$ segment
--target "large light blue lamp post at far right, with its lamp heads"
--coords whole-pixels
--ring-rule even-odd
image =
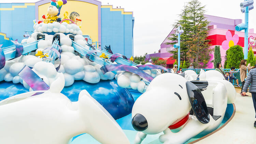
[[[241,12],[244,13],[244,23],[235,27],[236,31],[244,30],[244,59],[247,59],[248,55],[248,17],[249,11],[253,9],[253,0],[244,0],[240,3]]]

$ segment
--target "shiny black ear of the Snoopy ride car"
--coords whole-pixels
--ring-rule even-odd
[[[197,119],[202,124],[209,123],[210,115],[201,91],[196,85],[194,85],[189,81],[186,82],[186,87],[187,87],[189,102],[191,103],[192,109]]]

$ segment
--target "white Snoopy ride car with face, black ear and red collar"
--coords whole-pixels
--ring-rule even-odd
[[[193,76],[161,74],[136,100],[132,126],[139,132],[134,144],[140,144],[147,134],[161,132],[164,134],[159,136],[160,142],[183,144],[219,127],[227,103],[235,100],[233,85],[218,71],[201,71],[199,80],[193,80],[194,73],[188,74]],[[170,130],[177,128],[180,131],[176,133]]]

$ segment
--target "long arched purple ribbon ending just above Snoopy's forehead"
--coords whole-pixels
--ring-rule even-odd
[[[149,82],[151,82],[154,79],[154,77],[152,77],[151,75],[145,73],[144,71],[142,71],[140,69],[134,68],[132,66],[123,65],[123,64],[105,65],[105,66],[102,66],[100,68],[100,70],[103,74],[105,74],[106,72],[110,72],[110,71],[128,71],[128,72],[138,74],[139,76],[145,78]]]

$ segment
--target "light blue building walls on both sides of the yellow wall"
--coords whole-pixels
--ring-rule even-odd
[[[34,19],[34,4],[0,3],[0,33],[5,33],[8,38],[21,42],[25,30],[34,30]],[[101,48],[105,50],[103,47],[110,45],[113,53],[130,58],[133,55],[133,20],[132,14],[101,8]],[[12,42],[0,35],[0,44],[7,47]]]

